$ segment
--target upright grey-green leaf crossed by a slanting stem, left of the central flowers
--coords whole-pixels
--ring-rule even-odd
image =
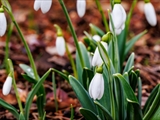
[[[82,42],[79,42],[79,47],[82,53],[83,61],[85,62],[84,63],[85,67],[90,69],[90,61],[89,61],[86,47]],[[77,73],[78,73],[78,80],[80,81],[81,84],[83,84],[83,78],[82,78],[83,68],[81,66],[80,58],[78,56],[78,51],[76,51],[76,67],[77,67]]]

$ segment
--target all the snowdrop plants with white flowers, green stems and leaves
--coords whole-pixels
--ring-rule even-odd
[[[95,0],[97,9],[102,16],[105,31],[102,31],[96,25],[90,24],[91,32],[84,32],[84,42],[86,46],[84,43],[78,42],[63,0],[58,1],[64,11],[70,32],[74,38],[76,59],[74,60],[72,58],[63,37],[62,30],[58,25],[54,25],[57,30],[56,49],[60,56],[67,53],[73,69],[73,75],[71,73],[68,76],[61,71],[50,68],[42,77],[40,77],[30,49],[14,18],[8,0],[1,0],[0,36],[3,36],[7,29],[7,21],[4,14],[4,12],[6,12],[16,27],[30,60],[30,66],[20,64],[21,69],[25,72],[22,76],[24,79],[31,82],[33,87],[27,97],[25,106],[22,106],[15,82],[14,66],[9,57],[6,58],[5,63],[6,69],[8,68],[8,77],[4,82],[2,93],[8,95],[13,86],[18,101],[19,112],[14,106],[8,104],[3,99],[0,99],[0,106],[9,110],[15,118],[19,120],[28,120],[32,100],[36,95],[39,119],[45,119],[45,89],[43,87],[43,82],[47,76],[52,73],[54,81],[53,88],[56,98],[54,72],[57,72],[72,86],[82,105],[80,113],[87,120],[160,119],[158,116],[158,112],[160,111],[160,86],[157,85],[154,88],[145,106],[141,109],[142,85],[140,70],[134,69],[134,53],[129,56],[126,65],[123,66],[134,43],[147,32],[144,30],[130,40],[127,38],[130,19],[137,0],[132,1],[132,6],[128,15],[121,5],[121,0],[110,0],[112,9],[108,10],[109,22],[104,15],[100,1]],[[86,0],[77,0],[76,5],[77,13],[80,17],[79,19],[81,19],[81,17],[85,15],[87,7]],[[52,0],[35,0],[34,2],[34,10],[38,11],[41,9],[42,13],[47,13],[51,6]],[[151,26],[157,24],[156,13],[149,0],[144,0],[144,14]],[[13,26],[10,27],[8,32],[12,30],[12,27]],[[11,34],[7,34],[7,38],[9,39],[10,37]],[[7,54],[8,53],[6,53],[6,56],[8,56]],[[137,94],[135,94],[135,92]],[[56,100],[55,104],[57,104]],[[73,113],[71,114],[71,119],[74,119]]]

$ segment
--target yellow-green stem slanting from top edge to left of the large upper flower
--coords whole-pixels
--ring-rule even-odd
[[[104,12],[102,10],[102,6],[101,6],[99,0],[96,0],[96,5],[97,5],[97,8],[98,8],[99,12],[101,13],[106,32],[108,32],[109,31],[108,23],[107,23],[106,17],[104,15]]]

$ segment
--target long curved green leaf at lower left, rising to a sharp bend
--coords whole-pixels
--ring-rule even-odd
[[[37,84],[34,86],[32,91],[29,93],[27,100],[26,100],[26,105],[25,105],[25,118],[26,120],[29,119],[29,110],[32,104],[32,100],[36,93],[38,92],[39,88],[42,86],[44,80],[48,77],[49,73],[51,72],[51,69],[49,69],[43,76],[40,78],[40,80],[37,82]],[[43,104],[43,103],[41,103]]]

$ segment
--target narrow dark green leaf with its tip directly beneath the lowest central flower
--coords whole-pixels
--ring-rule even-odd
[[[94,101],[94,103],[103,111],[107,120],[113,120],[111,114],[105,107],[103,107],[98,101]]]

